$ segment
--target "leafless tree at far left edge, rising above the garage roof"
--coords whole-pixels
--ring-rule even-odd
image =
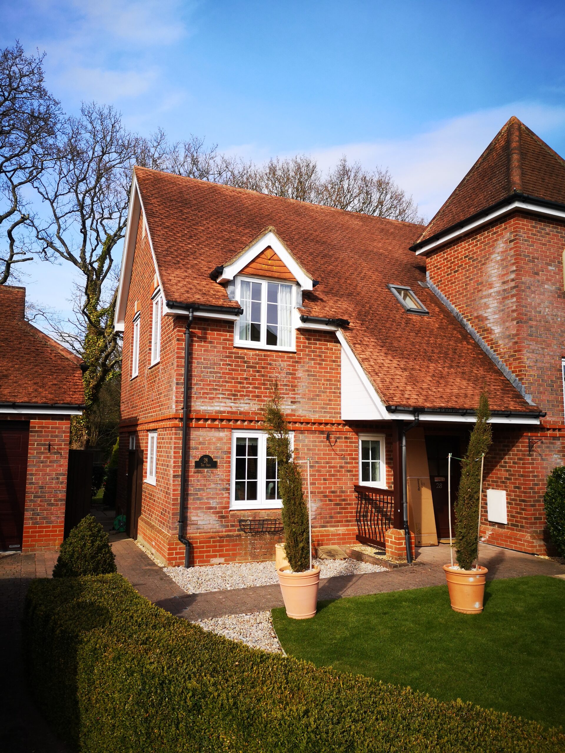
[[[19,42],[0,53],[0,285],[32,258],[21,234],[29,220],[23,190],[53,158],[60,105],[44,87],[43,59],[26,56]]]

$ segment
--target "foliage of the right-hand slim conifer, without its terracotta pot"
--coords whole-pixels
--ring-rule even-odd
[[[461,481],[455,503],[455,548],[457,564],[470,570],[478,556],[478,507],[481,488],[481,456],[493,441],[488,398],[482,393],[477,420],[469,437],[469,447],[461,463]]]

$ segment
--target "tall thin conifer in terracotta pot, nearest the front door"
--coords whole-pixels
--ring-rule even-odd
[[[487,568],[478,564],[482,468],[493,441],[488,420],[488,398],[483,392],[469,447],[461,465],[461,480],[455,503],[455,549],[457,565],[444,565],[451,608],[465,614],[483,611]]]

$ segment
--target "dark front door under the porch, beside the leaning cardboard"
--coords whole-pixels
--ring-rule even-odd
[[[432,485],[432,501],[434,505],[435,529],[439,538],[449,538],[449,486],[447,456],[459,457],[460,440],[454,436],[426,436],[426,451],[428,455],[429,481]],[[451,458],[451,527],[455,530],[454,502],[459,489],[461,477],[460,462]]]

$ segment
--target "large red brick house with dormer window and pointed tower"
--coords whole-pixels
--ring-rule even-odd
[[[545,552],[563,249],[565,163],[515,118],[427,227],[136,168],[116,315],[130,532],[169,563],[273,557],[276,380],[314,544],[390,528],[402,549],[406,518],[412,547],[437,544],[486,389],[484,538]]]

